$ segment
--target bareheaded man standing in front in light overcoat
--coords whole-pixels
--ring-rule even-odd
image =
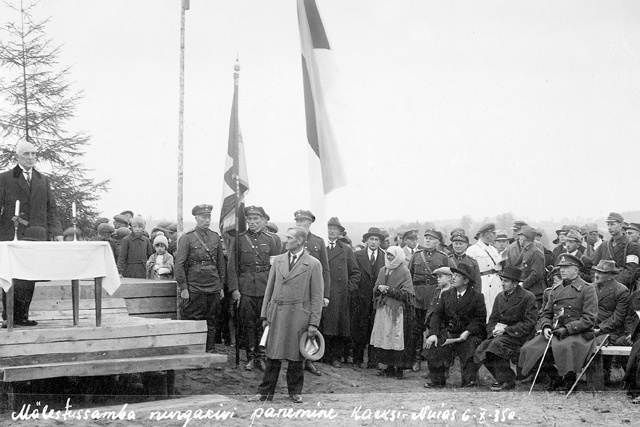
[[[313,338],[322,315],[322,265],[304,249],[307,231],[302,227],[287,230],[287,252],[278,255],[269,272],[262,303],[263,327],[269,326],[266,370],[257,401],[271,400],[275,393],[282,360],[288,360],[289,398],[301,403],[304,385],[304,358],[300,337],[306,331]]]

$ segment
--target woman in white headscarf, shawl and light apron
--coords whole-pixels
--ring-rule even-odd
[[[413,282],[404,266],[405,255],[399,246],[390,246],[385,266],[380,269],[373,295],[376,309],[370,345],[375,347],[377,361],[387,365],[381,376],[402,379],[403,369],[413,363]]]

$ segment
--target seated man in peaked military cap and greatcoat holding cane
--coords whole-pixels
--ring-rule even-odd
[[[562,254],[558,266],[563,284],[551,291],[538,320],[538,335],[522,346],[518,360],[523,375],[541,364],[551,378],[548,391],[571,387],[591,350],[598,318],[596,290],[579,276],[582,261]]]

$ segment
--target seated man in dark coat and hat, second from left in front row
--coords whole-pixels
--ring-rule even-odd
[[[475,362],[484,363],[496,380],[491,386],[493,391],[515,387],[510,360],[527,341],[538,318],[536,297],[518,286],[521,276],[522,270],[510,266],[500,274],[504,290],[493,303],[487,323],[489,338],[478,346],[474,355]]]

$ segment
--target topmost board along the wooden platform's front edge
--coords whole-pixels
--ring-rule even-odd
[[[155,335],[172,334],[192,334],[206,333],[207,322],[205,320],[174,320],[174,321],[154,321],[155,319],[143,319],[126,317],[127,323],[121,326],[105,325],[100,328],[84,327],[64,329],[40,329],[25,328],[16,329],[8,334],[0,331],[1,347],[12,344],[46,344],[55,342],[66,342],[74,340],[105,340],[118,338],[150,337]],[[40,326],[40,325],[38,325]],[[68,325],[67,325],[68,326]]]

